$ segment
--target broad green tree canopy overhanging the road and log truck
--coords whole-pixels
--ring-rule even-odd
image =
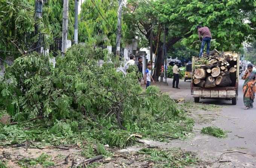
[[[158,79],[162,64],[163,27],[167,29],[167,51],[177,42],[187,45],[198,40],[196,26],[201,24],[212,31],[219,50],[239,49],[242,42],[253,35],[256,26],[254,0],[157,0],[131,1],[137,6],[134,12],[126,13],[133,36],[140,34],[148,40],[153,30],[153,51],[157,51],[157,66],[154,76]],[[131,21],[131,19],[133,19]],[[245,22],[245,20],[248,20]],[[126,20],[125,20],[126,21]],[[144,38],[144,39],[145,39]],[[143,40],[142,40],[143,41]]]

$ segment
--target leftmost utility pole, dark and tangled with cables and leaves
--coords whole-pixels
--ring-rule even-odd
[[[43,1],[42,0],[35,0],[35,21],[39,20],[42,18],[42,13],[43,13]],[[38,30],[39,26],[38,24],[35,26],[35,31],[37,34],[39,34],[37,45],[36,45],[36,51],[38,53],[41,53],[41,34]]]

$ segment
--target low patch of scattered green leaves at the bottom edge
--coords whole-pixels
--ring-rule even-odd
[[[144,154],[145,160],[153,162],[153,168],[184,168],[197,162],[193,153],[178,148],[171,150],[143,148],[137,153]]]

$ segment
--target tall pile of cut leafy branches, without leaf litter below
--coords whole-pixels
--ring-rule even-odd
[[[178,117],[175,102],[157,87],[142,91],[136,68],[124,75],[114,60],[99,66],[102,53],[111,58],[106,50],[75,45],[57,57],[56,68],[37,53],[17,58],[0,84],[2,110],[12,123],[84,118],[97,127],[109,120],[125,130]]]

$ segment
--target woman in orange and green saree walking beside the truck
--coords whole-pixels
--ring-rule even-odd
[[[243,93],[244,93],[244,105],[245,108],[244,110],[248,110],[249,108],[253,108],[253,100],[255,97],[255,92],[256,92],[256,78],[255,74],[253,73],[253,65],[249,64],[247,66],[247,70],[244,73],[243,80],[244,85],[243,85]]]

